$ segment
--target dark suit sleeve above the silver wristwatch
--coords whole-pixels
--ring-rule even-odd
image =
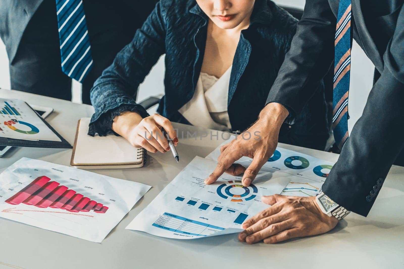
[[[381,76],[322,187],[332,200],[362,216],[368,215],[391,165],[404,148],[403,51],[404,7],[383,56]]]

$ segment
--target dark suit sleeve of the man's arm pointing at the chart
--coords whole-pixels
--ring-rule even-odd
[[[267,104],[284,105],[292,119],[301,112],[333,62],[335,27],[336,19],[327,0],[306,0],[303,17]]]

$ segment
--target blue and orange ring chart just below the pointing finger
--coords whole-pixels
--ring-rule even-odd
[[[245,202],[254,199],[258,189],[254,185],[244,187],[241,180],[227,181],[217,187],[217,194],[224,199],[231,198],[231,202]]]

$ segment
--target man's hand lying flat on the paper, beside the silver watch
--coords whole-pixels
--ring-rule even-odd
[[[265,209],[245,221],[245,229],[238,240],[254,244],[277,243],[296,237],[314,236],[332,230],[338,219],[324,214],[316,202],[316,197],[263,196],[262,201],[270,204]]]

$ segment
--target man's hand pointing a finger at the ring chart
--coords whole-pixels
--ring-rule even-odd
[[[278,103],[270,103],[261,111],[259,119],[248,130],[236,139],[221,147],[218,164],[205,179],[206,184],[215,182],[224,172],[231,175],[244,173],[242,184],[250,186],[258,171],[268,161],[278,145],[279,130],[288,116],[288,110]],[[235,161],[242,156],[252,158],[250,166],[246,169]]]

